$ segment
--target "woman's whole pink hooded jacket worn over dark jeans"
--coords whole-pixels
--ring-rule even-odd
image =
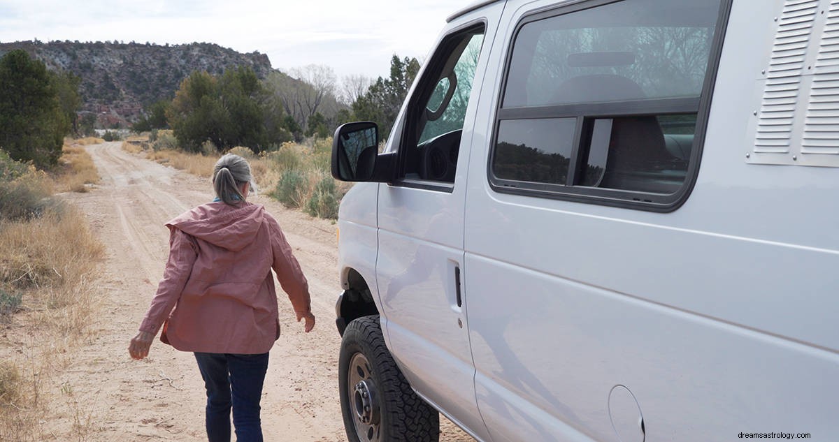
[[[279,338],[271,269],[298,317],[310,311],[308,282],[263,206],[207,203],[166,226],[169,260],[140,331],[165,321],[161,340],[178,350],[268,352]]]

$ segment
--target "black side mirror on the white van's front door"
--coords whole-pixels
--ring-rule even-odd
[[[341,181],[389,181],[392,154],[378,154],[378,126],[371,121],[341,125],[332,138],[332,177]]]

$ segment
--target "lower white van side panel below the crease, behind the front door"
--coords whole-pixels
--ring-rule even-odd
[[[565,440],[566,425],[610,440],[616,385],[637,398],[647,440],[832,434],[835,353],[497,260],[467,254],[466,265],[493,440]]]

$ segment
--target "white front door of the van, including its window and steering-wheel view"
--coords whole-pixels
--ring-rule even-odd
[[[378,197],[378,291],[388,347],[412,387],[487,439],[477,413],[466,323],[463,204],[466,162],[486,67],[485,35],[501,8],[450,27],[414,82],[388,152],[399,177]],[[494,15],[490,17],[489,15]]]

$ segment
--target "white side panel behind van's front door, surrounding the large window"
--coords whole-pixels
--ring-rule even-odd
[[[506,52],[518,18],[550,3],[508,2],[496,47]],[[779,5],[758,16],[774,23]],[[839,179],[836,169],[748,164],[737,149],[755,105],[743,90],[760,81],[739,60],[758,64],[768,49],[754,42],[772,41],[753,38],[773,29],[755,14],[734,3],[696,187],[673,213],[494,192],[497,105],[482,106],[465,278],[478,404],[496,442],[613,439],[616,385],[637,398],[647,440],[830,433],[839,305],[826,295],[839,282],[839,229],[823,214],[839,213],[829,197]],[[801,409],[789,407],[796,395]]]

